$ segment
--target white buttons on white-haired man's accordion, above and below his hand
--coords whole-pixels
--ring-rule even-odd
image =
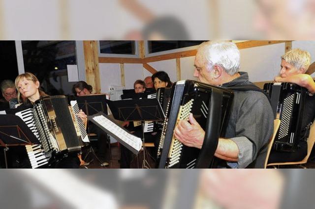
[[[177,118],[177,123],[180,120],[188,120],[188,116],[191,112],[191,108],[193,105],[193,99],[189,100],[186,104],[180,106],[178,118]],[[179,163],[181,154],[182,154],[182,149],[183,149],[183,144],[178,141],[176,137],[173,135],[173,139],[171,142],[170,146],[170,151],[169,151],[169,163],[168,163],[168,168],[172,167],[173,165]]]

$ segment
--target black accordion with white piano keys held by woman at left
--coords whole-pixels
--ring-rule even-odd
[[[16,113],[41,143],[26,146],[32,168],[49,165],[67,153],[79,152],[84,142],[89,142],[84,123],[76,115],[78,112],[76,101],[71,101],[69,106],[65,96],[51,96],[37,100],[33,109]]]

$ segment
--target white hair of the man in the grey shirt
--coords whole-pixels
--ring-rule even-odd
[[[198,53],[203,53],[208,70],[220,65],[224,71],[233,76],[240,68],[240,51],[236,44],[229,41],[207,41],[200,44]]]

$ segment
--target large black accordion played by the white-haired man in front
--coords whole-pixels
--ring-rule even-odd
[[[209,168],[218,146],[233,92],[205,83],[181,80],[173,84],[158,146],[158,168]],[[189,114],[205,130],[201,149],[179,142],[173,131]]]

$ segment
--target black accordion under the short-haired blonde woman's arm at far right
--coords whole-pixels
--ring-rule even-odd
[[[273,149],[297,150],[307,89],[293,83],[265,83],[264,91],[270,97],[275,116],[281,120]]]

